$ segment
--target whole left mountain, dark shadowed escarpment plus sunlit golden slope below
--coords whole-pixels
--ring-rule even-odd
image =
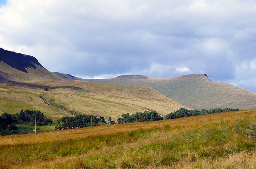
[[[116,120],[123,113],[156,110],[166,115],[185,107],[146,87],[78,80],[49,72],[33,56],[0,48],[0,113],[40,110],[58,119],[81,112]]]

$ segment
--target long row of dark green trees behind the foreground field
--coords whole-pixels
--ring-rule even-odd
[[[135,114],[122,114],[121,117],[117,118],[118,124],[126,124],[126,123],[134,123],[134,122],[142,122],[142,121],[156,121],[163,119],[173,119],[173,118],[181,118],[187,116],[196,116],[202,114],[211,114],[211,113],[220,113],[220,112],[229,112],[229,111],[238,111],[239,109],[210,109],[210,110],[188,110],[185,108],[181,108],[177,111],[171,112],[167,114],[165,117],[160,116],[156,111],[144,111],[144,112],[136,112]],[[0,116],[0,133],[6,131],[17,130],[16,124],[18,125],[35,125],[35,116],[37,117],[37,125],[48,125],[52,124],[53,120],[51,117],[47,118],[40,111],[34,110],[21,110],[16,114],[3,113]],[[55,123],[56,124],[56,123]],[[73,116],[63,116],[61,119],[57,120],[57,125],[55,126],[56,130],[72,128],[81,128],[81,127],[90,127],[90,126],[101,126],[101,125],[112,125],[115,124],[112,121],[112,117],[109,117],[108,121],[105,121],[104,116],[100,116],[99,118],[95,115],[88,114],[78,114]]]

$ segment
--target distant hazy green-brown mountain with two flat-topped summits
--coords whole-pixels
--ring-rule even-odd
[[[84,80],[149,87],[194,109],[256,108],[255,93],[227,83],[211,81],[205,74],[191,74],[166,79],[127,75],[112,79]]]

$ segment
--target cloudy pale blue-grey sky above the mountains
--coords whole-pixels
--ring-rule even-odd
[[[255,0],[0,0],[0,48],[80,78],[207,74],[256,93]]]

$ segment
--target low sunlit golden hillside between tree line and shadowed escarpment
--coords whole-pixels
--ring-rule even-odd
[[[146,87],[76,80],[16,82],[15,85],[0,86],[0,113],[16,113],[21,109],[40,110],[54,119],[72,114],[49,104],[51,99],[54,99],[55,105],[66,106],[68,110],[106,118],[111,116],[113,120],[123,113],[155,110],[166,115],[185,107]]]

